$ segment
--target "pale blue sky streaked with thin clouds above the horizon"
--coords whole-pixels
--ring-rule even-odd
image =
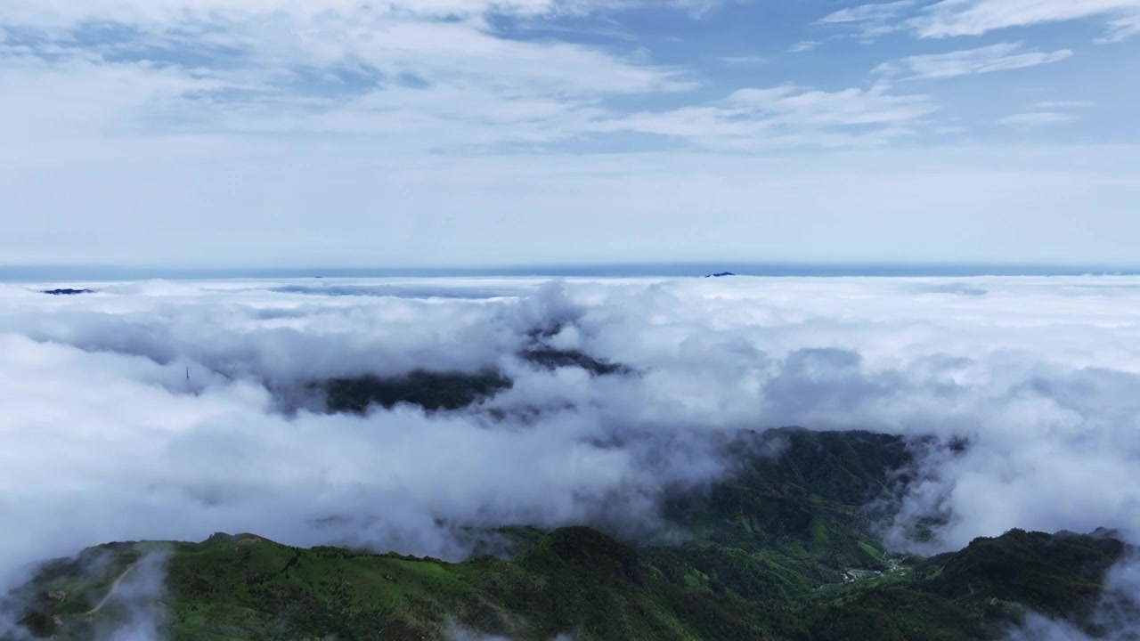
[[[1140,262],[1140,0],[9,0],[0,261]]]

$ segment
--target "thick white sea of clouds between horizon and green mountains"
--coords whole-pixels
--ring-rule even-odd
[[[1012,527],[1140,542],[1140,278],[0,284],[0,583],[109,541],[251,532],[461,558],[467,527],[650,524],[798,424],[968,439],[893,545]],[[518,352],[620,363],[596,376]],[[450,413],[329,414],[307,384],[495,367]],[[495,412],[492,412],[492,409]],[[505,417],[504,417],[505,416]],[[950,516],[933,543],[906,524]]]

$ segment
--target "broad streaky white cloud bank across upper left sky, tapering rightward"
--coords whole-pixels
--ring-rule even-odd
[[[0,82],[22,97],[0,114],[0,132],[10,128],[30,148],[74,147],[76,135],[101,148],[99,138],[121,143],[124,131],[136,139],[187,131],[386,135],[421,152],[559,140],[580,135],[606,96],[693,83],[676,68],[596,48],[500,38],[484,15],[605,6],[19,2],[0,26],[36,38],[0,47]],[[443,16],[457,19],[437,19]],[[79,38],[93,21],[121,29]],[[122,82],[105,84],[112,75]],[[79,99],[93,108],[68,115],[59,107]],[[33,117],[44,106],[64,122]],[[75,117],[82,131],[51,135]],[[27,131],[26,120],[43,128]]]

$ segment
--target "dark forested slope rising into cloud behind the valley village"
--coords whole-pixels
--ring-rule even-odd
[[[733,449],[735,478],[671,496],[667,518],[699,542],[764,554],[809,583],[839,583],[844,568],[888,569],[868,542],[912,462],[902,438],[783,429],[750,432]],[[873,501],[885,508],[869,510]]]

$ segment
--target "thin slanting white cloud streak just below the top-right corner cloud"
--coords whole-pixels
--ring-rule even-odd
[[[1073,51],[1068,49],[1052,52],[1025,51],[1019,42],[1004,42],[950,54],[910,56],[883,63],[874,71],[893,78],[901,76],[899,80],[955,78],[1057,63],[1072,55]]]

